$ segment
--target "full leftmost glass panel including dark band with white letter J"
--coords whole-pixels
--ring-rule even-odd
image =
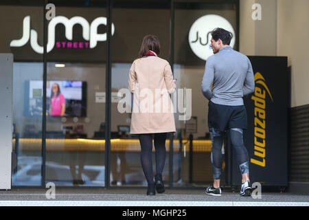
[[[43,55],[32,50],[30,29],[43,42],[43,1],[19,2],[0,3],[0,52],[14,54],[12,186],[41,186]]]

